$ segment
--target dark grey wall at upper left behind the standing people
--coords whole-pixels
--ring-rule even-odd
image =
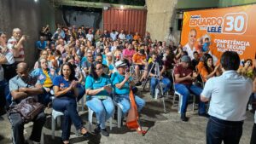
[[[23,34],[30,36],[25,43],[25,60],[29,66],[36,60],[35,42],[38,40],[41,26],[53,26],[50,22],[54,19],[54,11],[50,8],[47,0],[38,0],[38,3],[33,0],[0,1],[0,31],[7,32],[8,37],[11,37],[13,28],[19,27]]]

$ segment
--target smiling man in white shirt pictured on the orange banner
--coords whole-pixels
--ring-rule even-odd
[[[194,51],[195,51],[195,43],[196,43],[196,30],[191,29],[189,31],[189,42],[183,47],[183,51],[187,51],[190,59],[194,58]]]

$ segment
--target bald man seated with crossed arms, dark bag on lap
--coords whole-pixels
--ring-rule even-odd
[[[37,81],[37,78],[29,76],[28,66],[25,62],[20,62],[17,65],[16,72],[17,75],[9,80],[9,90],[12,95],[12,104],[10,107],[15,107],[15,105],[19,104],[26,97],[43,94],[42,85]],[[23,135],[25,123],[20,117],[20,113],[10,113],[9,120],[13,130],[13,143],[26,143]],[[45,120],[44,112],[40,112],[32,120],[34,122],[32,135],[28,141],[40,142]]]

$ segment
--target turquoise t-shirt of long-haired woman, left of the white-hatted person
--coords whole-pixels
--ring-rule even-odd
[[[85,89],[100,89],[102,87],[104,87],[105,85],[110,84],[110,79],[108,76],[104,75],[98,79],[94,79],[91,76],[88,76],[85,80]],[[107,95],[108,91],[106,90],[102,90],[101,92],[99,92],[96,95]]]

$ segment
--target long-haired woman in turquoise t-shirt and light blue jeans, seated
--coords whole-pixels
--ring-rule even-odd
[[[93,112],[96,112],[97,126],[95,133],[102,133],[108,136],[105,122],[113,115],[114,107],[110,96],[112,88],[110,78],[103,73],[102,63],[96,61],[91,65],[90,75],[86,78],[86,94],[89,95],[89,100],[86,101],[87,107]]]

